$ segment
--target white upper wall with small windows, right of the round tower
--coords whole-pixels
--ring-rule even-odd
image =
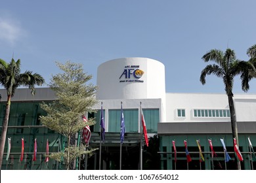
[[[236,120],[256,122],[256,95],[234,95]],[[177,108],[184,108],[186,117],[177,117]],[[230,122],[230,118],[194,118],[194,109],[229,109],[223,93],[166,93],[166,122]]]

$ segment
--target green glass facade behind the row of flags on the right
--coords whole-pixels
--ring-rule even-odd
[[[224,161],[223,145],[220,139],[224,138],[226,150],[230,156],[228,162]],[[200,152],[196,139],[200,139],[200,146],[205,161],[200,161]],[[211,158],[211,148],[209,147],[208,139],[211,139],[213,144],[213,150],[216,156]],[[256,136],[250,134],[250,139],[256,142]],[[184,140],[188,142],[188,152],[192,161],[187,163],[186,151],[184,148]],[[161,169],[164,170],[235,170],[237,169],[237,158],[234,154],[234,146],[232,141],[232,135],[216,135],[216,134],[200,134],[200,135],[169,135],[160,137],[160,154],[161,154]],[[177,161],[175,163],[175,153],[172,141],[175,141],[177,150]],[[256,150],[256,147],[253,147]],[[247,135],[239,135],[239,149],[242,153],[244,161],[240,161],[242,170],[255,169],[256,161],[251,161],[249,152],[249,142],[247,141]]]

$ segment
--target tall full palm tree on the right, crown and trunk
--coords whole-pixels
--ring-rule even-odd
[[[234,50],[230,48],[226,49],[226,52],[221,50],[210,50],[207,52],[203,57],[203,61],[213,61],[215,64],[207,65],[205,69],[202,70],[200,76],[200,82],[205,84],[205,76],[206,75],[216,75],[219,78],[223,79],[224,82],[224,89],[226,91],[226,95],[228,95],[228,105],[230,109],[230,120],[231,120],[231,128],[232,128],[232,137],[236,138],[238,142],[238,127],[236,124],[236,112],[234,108],[234,101],[233,101],[233,93],[232,88],[234,84],[234,77],[237,75],[242,75],[243,71],[249,70],[253,68],[247,61],[240,61],[236,59],[236,54]],[[246,82],[247,77],[241,77],[242,79],[242,90],[247,91],[249,84]],[[238,163],[238,169],[241,169],[240,163]]]

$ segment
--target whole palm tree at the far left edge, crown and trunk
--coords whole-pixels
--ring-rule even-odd
[[[3,120],[1,143],[0,143],[0,169],[3,161],[3,150],[5,148],[5,140],[7,135],[7,127],[9,122],[11,97],[13,97],[16,88],[25,86],[30,88],[32,95],[35,94],[35,85],[41,86],[45,80],[37,73],[32,75],[32,71],[20,73],[20,59],[14,61],[12,58],[10,63],[0,59],[0,84],[7,90],[7,104],[5,109],[5,118]]]

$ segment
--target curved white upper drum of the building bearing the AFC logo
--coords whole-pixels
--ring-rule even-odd
[[[142,74],[142,75],[141,75]],[[162,99],[165,66],[149,58],[119,58],[98,66],[97,99]]]

